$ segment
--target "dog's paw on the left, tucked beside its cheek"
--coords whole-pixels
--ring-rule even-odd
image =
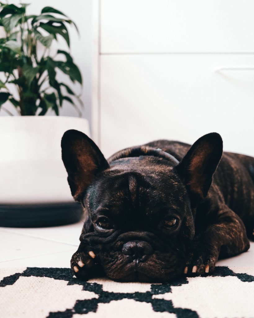
[[[98,272],[98,259],[93,251],[81,252],[77,251],[72,255],[70,267],[77,278],[87,280]]]

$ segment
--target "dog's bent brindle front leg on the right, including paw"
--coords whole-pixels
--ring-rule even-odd
[[[219,208],[212,222],[197,229],[188,254],[185,274],[212,273],[218,257],[246,252],[250,242],[242,220],[228,206]]]

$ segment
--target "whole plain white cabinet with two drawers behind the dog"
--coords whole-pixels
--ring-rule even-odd
[[[216,131],[254,156],[254,1],[102,0],[94,125],[105,156]]]

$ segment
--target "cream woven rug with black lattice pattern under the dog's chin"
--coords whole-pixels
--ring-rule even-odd
[[[87,282],[69,268],[0,269],[1,318],[253,318],[254,267],[172,283]]]

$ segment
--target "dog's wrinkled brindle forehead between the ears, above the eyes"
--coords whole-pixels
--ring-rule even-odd
[[[123,158],[94,180],[85,205],[90,213],[135,213],[137,217],[168,209],[184,211],[185,195],[172,168],[155,169],[153,165],[138,164],[136,158]]]

